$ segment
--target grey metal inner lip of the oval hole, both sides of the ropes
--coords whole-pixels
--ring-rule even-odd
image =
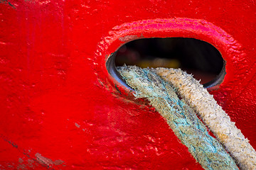
[[[129,89],[129,91],[134,91],[134,89],[132,89],[130,86],[128,86],[128,84],[125,82],[124,79],[122,79],[122,76],[119,74],[119,72],[117,71],[116,65],[115,65],[115,57],[117,55],[117,52],[112,53],[112,55],[110,55],[110,57],[107,59],[106,62],[106,67],[107,67],[107,72],[109,72],[109,74],[117,81],[119,82],[119,84],[121,84],[122,86],[124,86],[125,88]],[[203,84],[204,88],[210,88],[213,86],[217,86],[218,84],[221,84],[224,80],[225,77],[225,65],[226,62],[223,62],[223,68],[220,71],[220,74],[218,74],[218,76],[209,81],[206,84]]]

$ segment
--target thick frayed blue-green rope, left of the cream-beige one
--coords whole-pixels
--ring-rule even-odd
[[[119,67],[118,71],[135,90],[134,95],[147,98],[166,119],[178,139],[204,169],[238,169],[218,140],[209,135],[206,125],[164,79],[150,69],[139,67]]]

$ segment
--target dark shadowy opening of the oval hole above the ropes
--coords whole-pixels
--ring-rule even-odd
[[[181,68],[201,84],[223,81],[225,61],[208,42],[194,38],[145,38],[133,40],[116,52],[115,65]],[[208,86],[206,86],[208,87]]]

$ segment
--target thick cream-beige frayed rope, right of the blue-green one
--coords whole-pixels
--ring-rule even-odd
[[[218,106],[206,89],[181,69],[151,69],[178,90],[178,94],[202,118],[215,137],[238,162],[240,169],[256,169],[256,152],[230,117]]]

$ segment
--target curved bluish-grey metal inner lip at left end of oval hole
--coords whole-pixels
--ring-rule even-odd
[[[122,76],[119,74],[117,71],[117,67],[115,65],[115,57],[117,55],[117,52],[112,53],[110,57],[107,59],[106,62],[106,67],[107,67],[107,72],[117,81],[119,84],[122,84],[125,88],[129,89],[129,91],[134,91],[128,84],[125,82],[124,79],[122,79]]]

